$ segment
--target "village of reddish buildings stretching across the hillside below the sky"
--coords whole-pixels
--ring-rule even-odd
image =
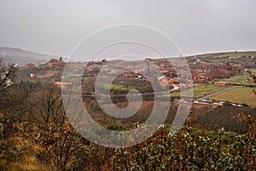
[[[171,87],[184,86],[187,84],[195,83],[214,83],[216,85],[227,86],[229,83],[224,82],[214,82],[216,79],[234,77],[237,74],[244,71],[244,67],[239,64],[224,64],[224,63],[205,63],[201,61],[189,61],[189,68],[192,75],[192,79],[187,79],[187,83],[181,83],[179,80],[180,76],[177,76],[177,71],[179,66],[175,69],[172,67],[173,64],[168,60],[151,60],[146,59],[140,62],[140,65],[134,65],[133,62],[125,62],[124,60],[102,60],[102,61],[91,61],[89,63],[81,62],[65,62],[60,57],[59,60],[51,59],[49,62],[40,64],[36,66],[35,64],[28,63],[26,66],[22,66],[22,71],[26,72],[26,77],[30,79],[49,79],[55,82],[61,82],[61,73],[64,67],[67,66],[72,68],[73,71],[85,66],[83,77],[96,77],[96,75],[101,71],[102,66],[108,64],[108,69],[104,69],[106,76],[113,76],[114,74],[122,71],[124,69],[129,69],[130,71],[125,71],[119,75],[120,78],[130,78],[138,79],[143,78],[143,75],[147,75],[150,81],[154,83],[159,83],[160,87]],[[125,65],[124,65],[125,64]],[[158,66],[159,68],[155,68]],[[163,76],[157,76],[154,71],[159,69]],[[180,67],[183,70],[183,66]],[[27,72],[28,71],[28,72]],[[150,75],[148,75],[150,73]]]

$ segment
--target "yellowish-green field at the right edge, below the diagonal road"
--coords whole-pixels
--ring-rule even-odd
[[[256,106],[256,95],[253,94],[253,88],[247,87],[232,88],[225,92],[212,95],[207,99],[221,101],[227,100],[233,103]]]

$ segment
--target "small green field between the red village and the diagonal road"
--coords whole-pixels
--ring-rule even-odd
[[[213,84],[198,84],[193,88],[193,97],[194,99],[199,98],[201,96],[211,94],[213,92],[216,92],[220,89],[227,88],[225,86],[216,86]],[[191,91],[191,88],[183,90],[183,97],[189,97],[189,92]],[[180,92],[173,92],[171,94],[172,97],[180,97]]]

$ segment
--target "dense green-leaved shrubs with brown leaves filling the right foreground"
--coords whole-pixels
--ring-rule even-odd
[[[255,170],[256,140],[252,134],[234,136],[224,128],[205,132],[183,128],[167,135],[161,128],[141,145],[117,149],[113,170]]]

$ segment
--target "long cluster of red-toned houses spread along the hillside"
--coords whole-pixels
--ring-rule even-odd
[[[51,59],[49,62],[39,66],[28,63],[22,68],[28,69],[38,67],[45,70],[55,69],[61,73],[66,64],[67,62],[63,61],[60,57],[59,60]],[[173,84],[188,85],[193,83],[209,83],[216,78],[236,76],[236,74],[244,70],[241,65],[205,63],[197,60],[189,61],[189,72],[184,71],[183,65],[185,64],[183,63],[173,62],[171,64],[168,60],[151,59],[145,59],[143,61],[102,60],[89,63],[68,62],[67,66],[73,71],[79,71],[83,65],[86,67],[82,73],[79,73],[82,74],[83,77],[96,77],[96,75],[103,69],[106,76],[115,76],[118,74],[119,77],[131,79],[145,79],[145,77],[148,77],[150,81],[159,83],[162,87],[172,86]],[[174,65],[175,68],[173,67]],[[36,75],[37,73],[31,73],[31,77],[35,77]],[[185,82],[183,82],[183,80],[185,80]],[[227,85],[227,83],[215,84]]]

